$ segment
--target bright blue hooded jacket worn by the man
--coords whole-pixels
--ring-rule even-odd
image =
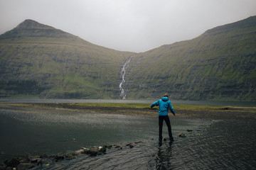
[[[159,101],[152,103],[150,108],[154,106],[159,106],[159,115],[168,115],[168,108],[175,115],[174,108],[171,106],[171,101],[169,101],[168,97],[163,97]]]

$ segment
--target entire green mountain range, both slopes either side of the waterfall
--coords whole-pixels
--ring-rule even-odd
[[[0,35],[0,60],[1,97],[122,98],[123,82],[126,98],[256,101],[256,16],[138,54],[26,20]]]

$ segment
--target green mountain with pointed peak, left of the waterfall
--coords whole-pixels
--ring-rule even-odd
[[[117,98],[119,52],[26,20],[0,35],[0,96]]]

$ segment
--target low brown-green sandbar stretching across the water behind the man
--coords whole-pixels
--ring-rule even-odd
[[[156,116],[158,108],[118,108],[118,107],[95,107],[82,106],[72,103],[9,103],[4,105],[39,107],[39,108],[62,108],[88,113],[119,114]],[[228,107],[219,109],[181,109],[174,108],[178,118],[203,118],[203,119],[233,119],[233,118],[256,118],[256,107]],[[169,113],[169,115],[172,115]]]

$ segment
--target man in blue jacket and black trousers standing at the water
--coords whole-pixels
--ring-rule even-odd
[[[168,94],[164,94],[164,97],[161,98],[159,101],[156,101],[151,104],[150,108],[154,106],[159,106],[159,142],[162,141],[162,130],[163,130],[163,122],[166,122],[168,132],[169,132],[169,139],[171,142],[174,141],[174,137],[171,133],[171,123],[168,116],[168,108],[170,108],[171,113],[175,116],[174,108],[171,106],[171,101],[169,101]]]

